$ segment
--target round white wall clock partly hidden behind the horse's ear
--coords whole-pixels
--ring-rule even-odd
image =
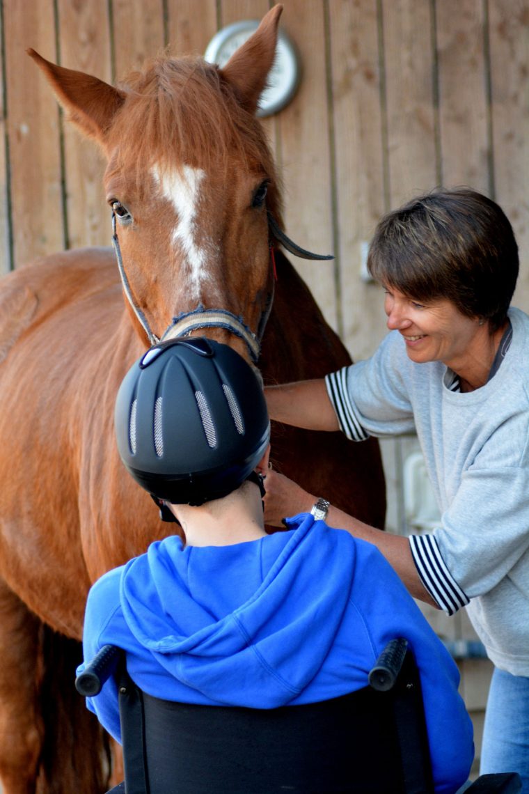
[[[215,34],[205,51],[210,64],[225,66],[241,44],[255,33],[259,21],[247,20],[228,25]],[[292,42],[282,30],[278,33],[274,66],[268,75],[268,87],[259,98],[258,116],[270,116],[285,107],[296,93],[299,64]]]

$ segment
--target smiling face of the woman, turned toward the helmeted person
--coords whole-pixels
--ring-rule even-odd
[[[384,309],[389,330],[401,333],[412,361],[443,361],[454,372],[460,372],[473,357],[486,328],[447,299],[418,303],[394,287],[385,287]]]

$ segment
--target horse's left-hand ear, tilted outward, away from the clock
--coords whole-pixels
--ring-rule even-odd
[[[82,71],[65,69],[45,60],[34,49],[26,51],[44,72],[68,118],[82,133],[103,144],[105,133],[125,101],[125,94]]]

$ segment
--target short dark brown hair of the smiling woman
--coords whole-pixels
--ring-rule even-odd
[[[518,245],[492,199],[470,188],[439,188],[381,219],[367,268],[412,299],[448,299],[467,317],[488,320],[494,331],[516,287]]]

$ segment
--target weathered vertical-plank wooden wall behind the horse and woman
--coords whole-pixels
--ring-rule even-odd
[[[98,152],[63,123],[25,54],[112,81],[169,44],[204,52],[219,27],[269,0],[3,0],[0,267],[64,246],[108,245]],[[286,185],[286,227],[335,252],[297,267],[351,353],[385,333],[362,252],[385,210],[436,184],[468,184],[507,211],[529,309],[529,2],[284,0],[303,79],[266,121]]]

